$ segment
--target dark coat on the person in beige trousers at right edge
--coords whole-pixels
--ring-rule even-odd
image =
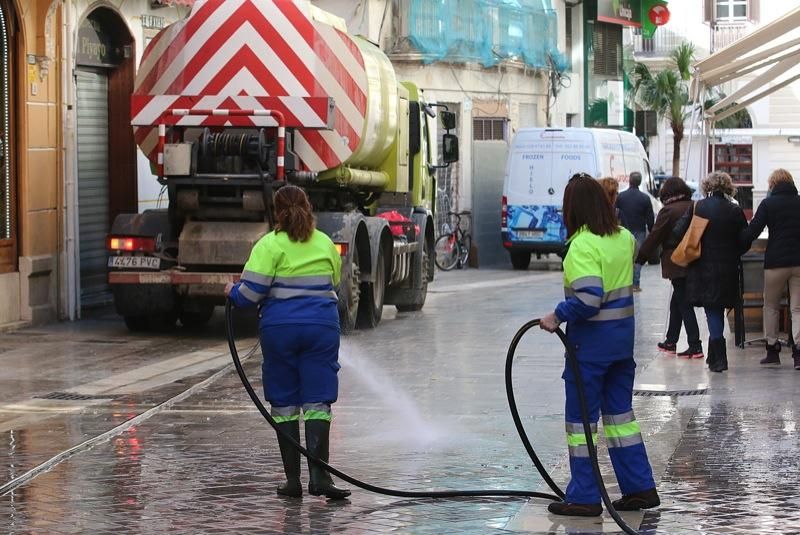
[[[800,266],[800,196],[789,182],[772,188],[772,194],[761,201],[742,239],[751,244],[764,227],[769,227],[764,268]]]

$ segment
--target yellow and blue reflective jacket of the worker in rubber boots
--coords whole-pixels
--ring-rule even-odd
[[[285,232],[273,231],[253,246],[230,295],[236,306],[260,305],[262,325],[338,327],[335,288],[341,269],[339,252],[319,230],[305,242],[293,242]]]

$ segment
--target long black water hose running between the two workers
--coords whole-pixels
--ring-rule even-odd
[[[408,491],[408,490],[396,490],[396,489],[388,489],[384,487],[379,487],[377,485],[372,485],[370,483],[366,483],[359,479],[356,479],[350,475],[345,474],[344,472],[340,472],[336,468],[332,467],[325,461],[311,455],[309,451],[304,448],[298,441],[296,441],[293,437],[289,436],[288,433],[284,432],[277,423],[272,415],[269,413],[267,408],[261,402],[261,399],[256,394],[255,390],[253,389],[253,385],[250,384],[250,381],[247,379],[247,375],[242,367],[242,363],[239,360],[239,353],[236,349],[236,341],[234,339],[233,333],[233,314],[231,313],[232,303],[231,300],[228,299],[225,303],[225,329],[228,335],[228,347],[230,348],[231,357],[233,358],[234,366],[236,367],[236,372],[239,374],[239,378],[242,381],[242,385],[244,385],[247,394],[250,396],[250,399],[253,401],[253,404],[256,406],[258,411],[264,417],[265,420],[272,426],[273,429],[277,433],[281,435],[286,441],[292,444],[300,453],[303,454],[304,457],[309,459],[310,461],[319,464],[325,470],[330,472],[331,474],[335,475],[339,479],[350,483],[356,487],[362,488],[364,490],[375,492],[377,494],[384,494],[387,496],[396,496],[398,498],[463,498],[463,497],[481,497],[481,496],[514,496],[514,497],[525,497],[525,498],[542,498],[546,500],[553,500],[553,501],[560,501],[564,497],[563,491],[558,488],[558,485],[553,482],[550,478],[550,475],[547,473],[547,470],[542,465],[541,461],[536,455],[536,452],[533,450],[533,446],[531,446],[530,441],[528,440],[528,435],[525,433],[525,429],[522,426],[522,421],[519,418],[519,412],[517,411],[516,402],[514,400],[514,393],[513,393],[513,386],[511,384],[511,368],[512,362],[514,360],[514,354],[517,349],[517,345],[519,341],[522,339],[523,335],[529,331],[531,328],[539,325],[539,320],[535,319],[529,321],[522,328],[514,335],[513,340],[511,341],[511,345],[508,348],[508,354],[506,357],[506,393],[508,395],[508,402],[511,408],[511,414],[514,418],[514,425],[517,428],[517,432],[522,439],[523,444],[525,445],[525,449],[528,452],[533,463],[536,465],[537,470],[541,474],[542,478],[547,482],[550,488],[557,494],[556,496],[552,494],[547,494],[543,492],[534,492],[534,491],[527,491],[527,490],[494,490],[494,489],[486,489],[486,490],[443,490],[443,491]],[[608,509],[609,514],[614,519],[614,521],[619,525],[620,528],[625,533],[631,535],[638,535],[638,533],[633,530],[630,526],[628,526],[625,521],[619,516],[619,514],[614,510],[613,505],[611,504],[611,499],[608,496],[608,492],[606,491],[605,485],[603,484],[603,477],[600,473],[600,466],[597,463],[597,450],[593,445],[592,442],[592,432],[591,427],[589,425],[589,415],[586,409],[586,399],[585,394],[583,391],[583,384],[580,380],[580,373],[578,368],[578,360],[575,356],[575,351],[572,346],[569,344],[566,335],[564,334],[561,329],[556,330],[556,334],[561,339],[561,342],[564,344],[567,352],[567,361],[570,362],[570,365],[575,372],[575,376],[577,377],[577,390],[578,390],[578,398],[580,401],[580,405],[582,408],[582,416],[583,416],[583,428],[584,433],[586,434],[586,441],[589,446],[589,455],[592,459],[592,467],[594,468],[595,477],[597,478],[597,483],[600,488],[601,496],[603,497],[603,502],[606,505],[606,509]]]

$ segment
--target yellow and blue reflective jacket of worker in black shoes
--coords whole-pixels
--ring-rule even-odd
[[[612,361],[633,356],[633,255],[635,240],[620,228],[598,236],[586,227],[569,240],[564,258],[565,300],[556,316],[578,358]]]

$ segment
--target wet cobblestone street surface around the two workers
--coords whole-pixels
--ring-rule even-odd
[[[552,310],[561,286],[558,272],[447,273],[422,312],[387,307],[377,329],[344,337],[331,464],[396,489],[549,492],[517,437],[503,371],[513,334]],[[800,372],[788,363],[760,367],[755,345],[729,343],[730,370],[713,376],[701,360],[661,356],[656,342],[668,285],[650,267],[643,286],[636,294],[641,395],[634,407],[662,506],[626,514],[626,521],[648,534],[800,533]],[[243,323],[242,353],[254,342],[252,325]],[[531,331],[514,378],[537,454],[563,487],[562,354],[555,336]],[[165,361],[170,367],[159,366]],[[172,399],[229,361],[220,317],[201,334],[131,335],[102,315],[0,335],[0,485]],[[260,354],[245,367],[260,392]],[[659,389],[689,395],[653,395]],[[37,398],[53,392],[86,399]],[[600,456],[616,498],[604,445]],[[305,466],[303,472],[306,480]],[[607,515],[548,515],[542,500],[400,499],[356,488],[340,503],[279,498],[282,478],[274,433],[231,371],[0,497],[0,532],[619,532]]]

